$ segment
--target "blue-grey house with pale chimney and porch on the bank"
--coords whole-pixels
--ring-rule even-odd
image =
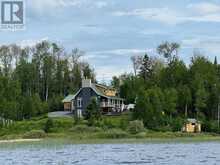
[[[91,98],[97,99],[103,114],[120,114],[124,109],[124,99],[117,96],[115,89],[92,83],[90,79],[82,80],[82,87],[78,92],[63,100],[64,109],[82,117]]]

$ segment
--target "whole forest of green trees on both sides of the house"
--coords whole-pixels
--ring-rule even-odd
[[[190,64],[179,58],[178,43],[163,42],[159,56],[131,57],[133,73],[114,76],[115,87],[126,104],[134,103],[133,120],[154,130],[177,131],[187,118],[203,122],[204,131],[218,132],[220,65],[201,52]],[[95,71],[82,60],[84,52],[71,53],[56,43],[33,47],[0,47],[0,115],[11,120],[30,119],[62,110],[61,100],[76,92],[81,78],[96,81]]]

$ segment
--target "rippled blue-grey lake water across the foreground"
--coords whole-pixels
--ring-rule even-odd
[[[4,144],[0,165],[218,165],[220,143]]]

